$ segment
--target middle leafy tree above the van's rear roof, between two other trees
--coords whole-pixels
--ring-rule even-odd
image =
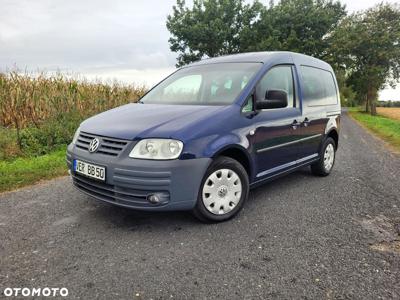
[[[282,0],[270,3],[257,24],[251,50],[287,50],[332,61],[329,36],[346,16],[332,0]]]

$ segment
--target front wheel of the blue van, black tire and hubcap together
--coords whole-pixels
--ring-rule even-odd
[[[243,166],[230,157],[217,157],[204,174],[193,214],[206,223],[229,220],[248,195],[249,178]]]

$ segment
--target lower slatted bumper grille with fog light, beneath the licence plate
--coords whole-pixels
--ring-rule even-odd
[[[100,200],[134,207],[154,206],[147,201],[147,196],[153,192],[111,185],[105,182],[86,178],[76,173],[71,175],[74,184],[80,190]],[[160,204],[165,204],[169,201],[168,191],[157,191],[157,194],[161,195],[163,198],[163,201]]]

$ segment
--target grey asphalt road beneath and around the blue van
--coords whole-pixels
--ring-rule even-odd
[[[329,177],[304,169],[268,183],[222,224],[101,204],[69,178],[0,195],[1,292],[399,299],[400,158],[346,116],[339,143]]]

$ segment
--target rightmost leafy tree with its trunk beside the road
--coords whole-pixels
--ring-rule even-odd
[[[347,83],[376,114],[378,91],[400,79],[400,10],[378,4],[345,18],[332,35],[334,51],[343,62]]]

